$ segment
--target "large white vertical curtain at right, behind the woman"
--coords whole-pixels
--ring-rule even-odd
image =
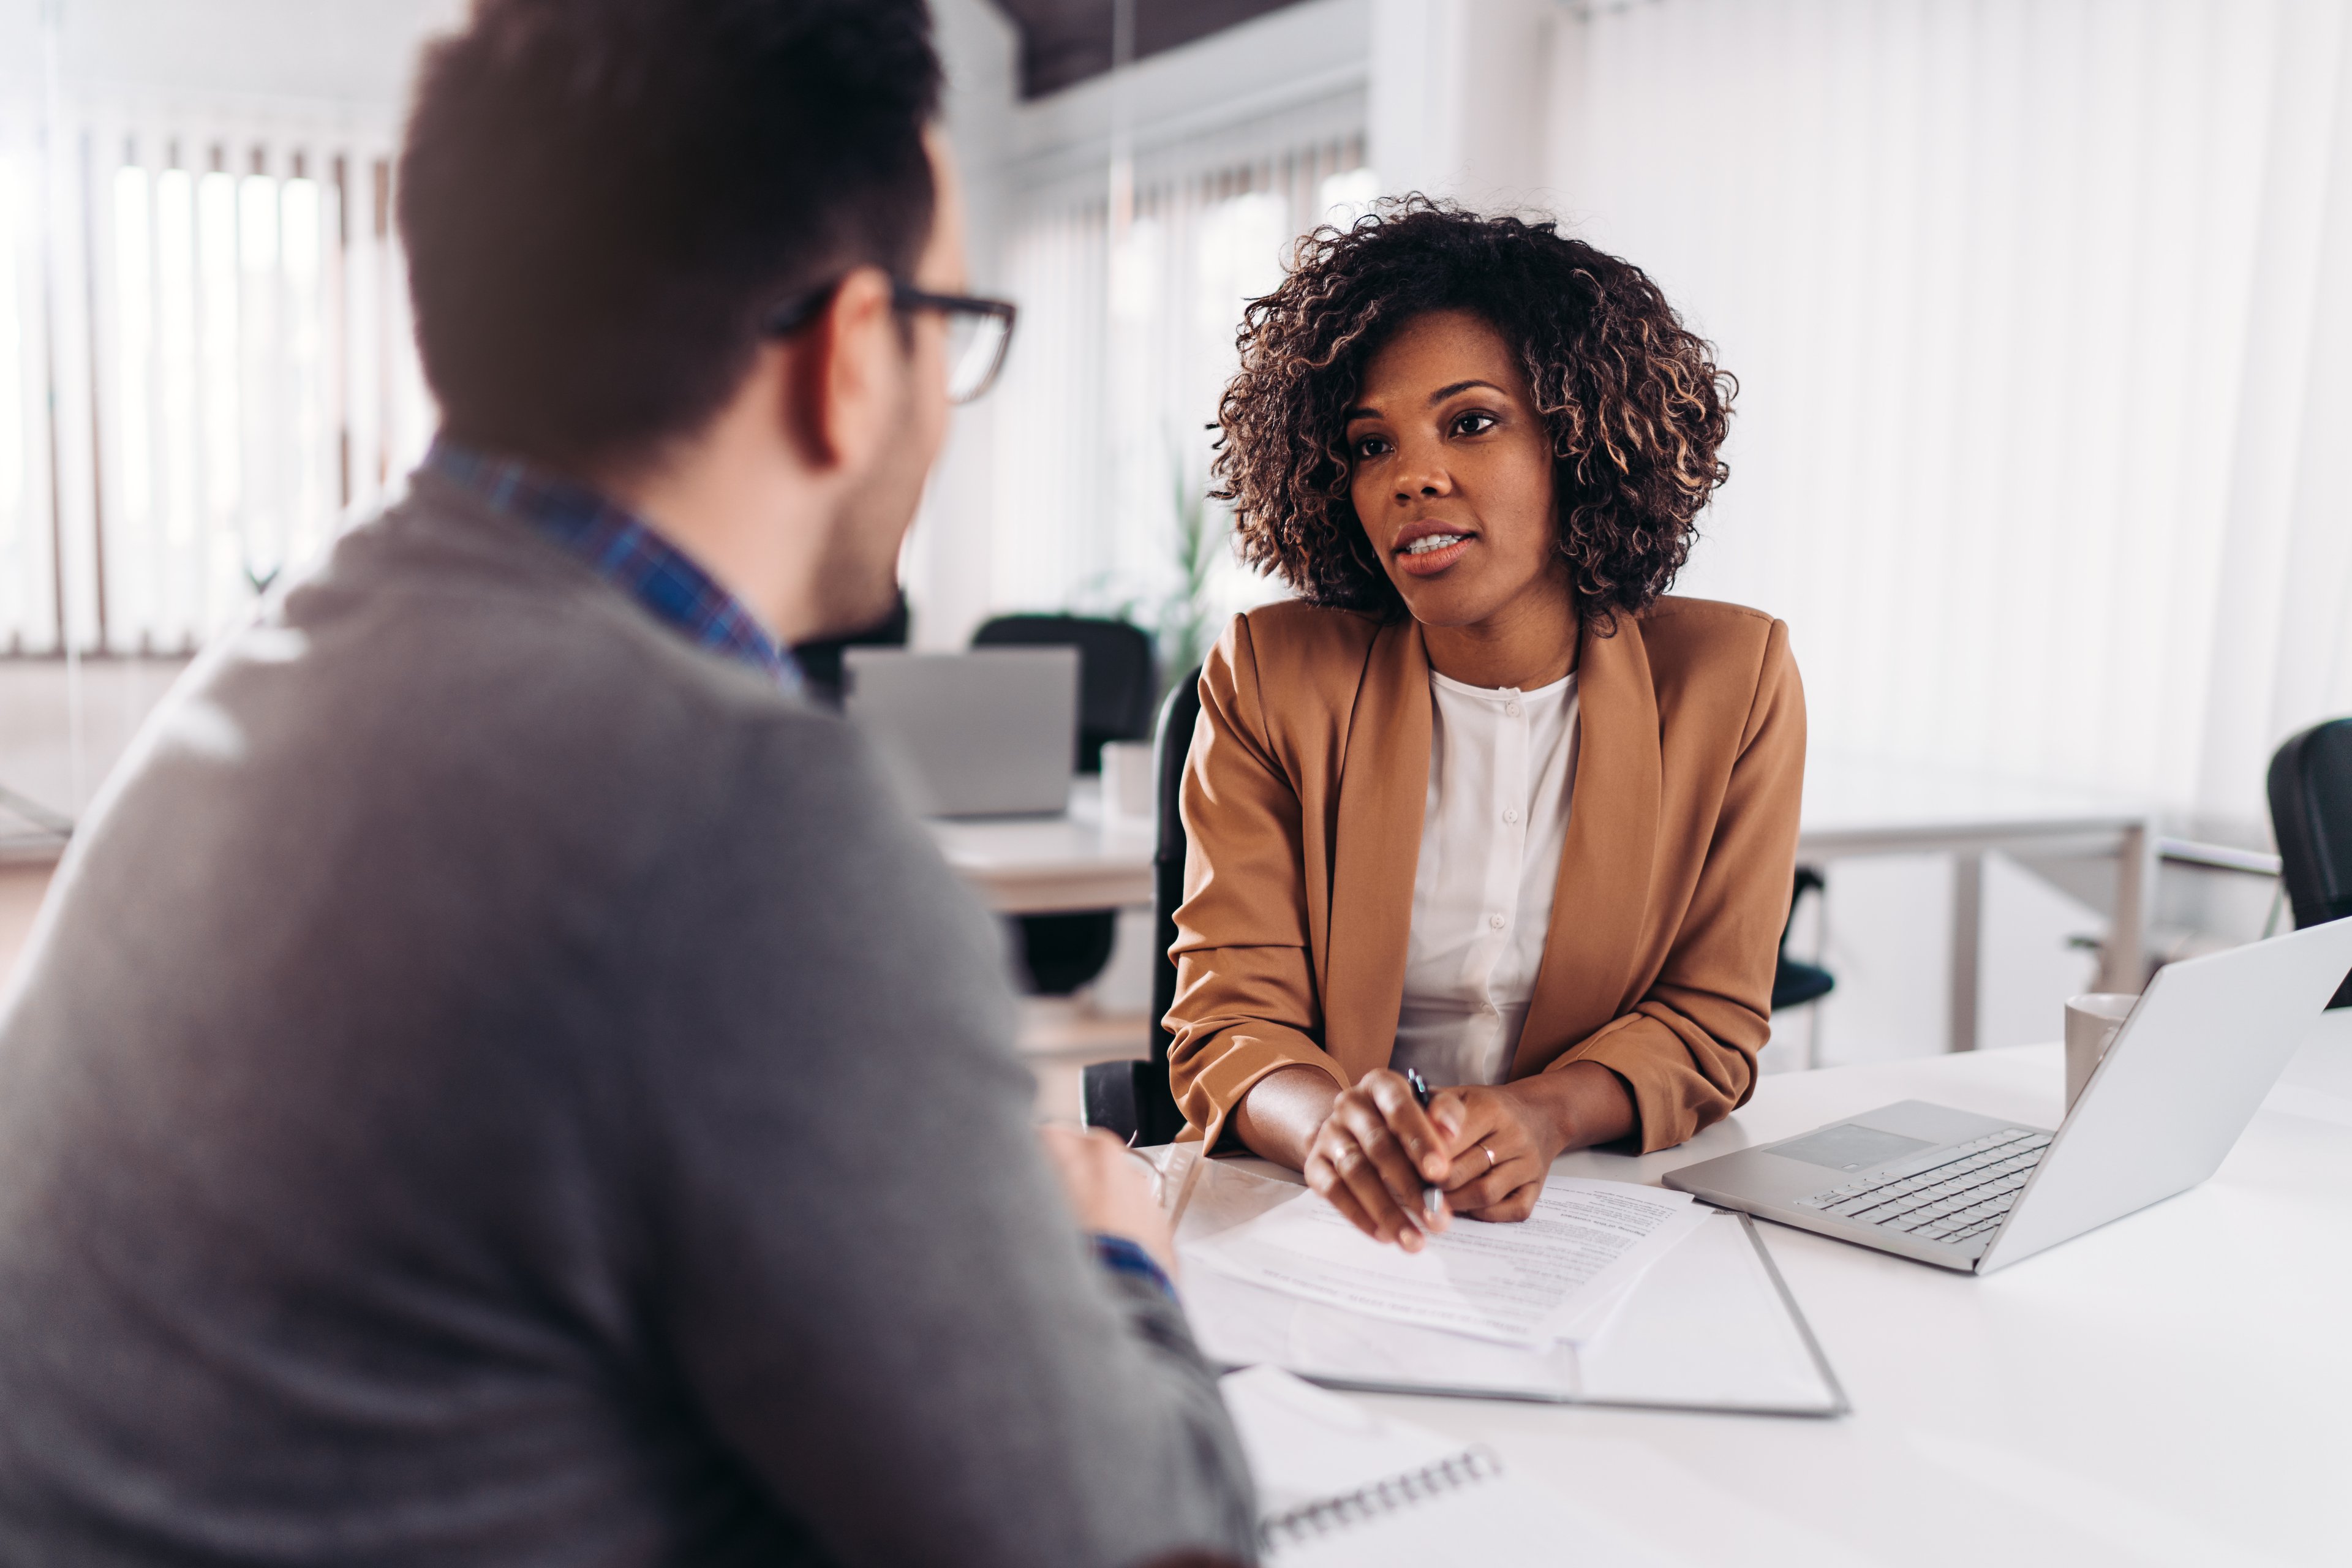
[[[2340,0],[1649,0],[1557,28],[1552,193],[1738,374],[1686,592],[1816,748],[2260,832],[2352,712]]]

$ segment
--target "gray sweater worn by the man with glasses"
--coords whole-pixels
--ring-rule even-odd
[[[0,1011],[5,1563],[1249,1552],[856,736],[430,475],[158,710]]]

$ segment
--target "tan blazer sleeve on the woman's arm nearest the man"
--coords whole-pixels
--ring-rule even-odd
[[[1308,1065],[1348,1086],[1322,1048],[1298,790],[1268,741],[1249,621],[1200,675],[1200,722],[1178,802],[1185,898],[1176,910],[1169,1086],[1207,1128],[1268,1072]]]

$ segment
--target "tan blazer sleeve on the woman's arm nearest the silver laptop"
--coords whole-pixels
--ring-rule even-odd
[[[1764,642],[1738,755],[1656,980],[1635,1006],[1548,1063],[1602,1063],[1632,1091],[1642,1152],[1668,1150],[1755,1093],[1797,870],[1804,689],[1778,621]]]

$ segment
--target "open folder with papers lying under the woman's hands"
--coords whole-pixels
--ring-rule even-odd
[[[1225,1366],[1352,1389],[1846,1410],[1755,1227],[1677,1192],[1555,1175],[1526,1222],[1456,1220],[1404,1253],[1296,1178],[1209,1161],[1176,1246],[1192,1331]]]

